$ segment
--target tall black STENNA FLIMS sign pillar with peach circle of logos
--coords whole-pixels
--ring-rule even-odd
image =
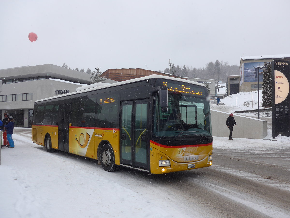
[[[272,68],[272,137],[290,136],[289,61],[273,60]]]

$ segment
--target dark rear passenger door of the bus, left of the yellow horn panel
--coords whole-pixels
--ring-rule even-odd
[[[69,124],[70,124],[70,105],[59,106],[58,121],[58,147],[59,150],[69,152]]]

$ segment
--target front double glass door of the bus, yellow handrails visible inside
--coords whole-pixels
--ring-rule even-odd
[[[147,118],[148,100],[122,102],[121,164],[148,169]]]

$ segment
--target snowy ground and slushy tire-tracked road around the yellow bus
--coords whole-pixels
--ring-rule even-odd
[[[3,218],[290,217],[287,140],[214,137],[213,166],[148,175],[47,153],[31,142],[31,128],[14,131],[18,147],[2,149],[0,182],[12,184],[0,192]]]

